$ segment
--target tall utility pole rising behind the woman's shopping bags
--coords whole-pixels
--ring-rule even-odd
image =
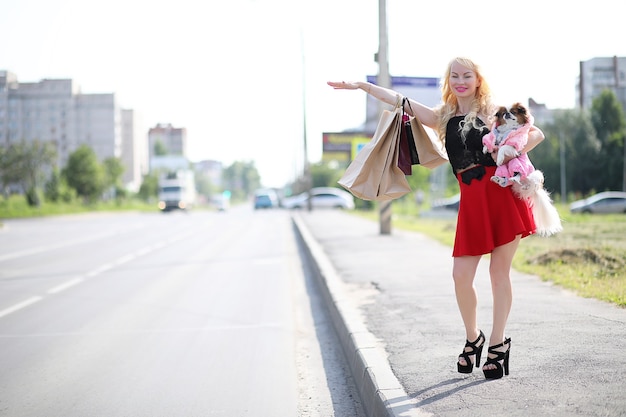
[[[391,88],[391,76],[389,75],[388,59],[389,41],[387,39],[387,0],[378,0],[378,77],[376,83],[385,88]],[[382,114],[384,103],[378,102],[378,116]],[[380,234],[391,234],[391,200],[379,203]]]

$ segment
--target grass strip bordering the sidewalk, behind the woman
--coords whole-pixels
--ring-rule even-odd
[[[408,207],[407,207],[408,206]],[[570,214],[558,205],[563,232],[523,239],[513,268],[576,294],[626,307],[626,215]],[[456,216],[433,217],[394,203],[392,227],[423,233],[452,247]],[[378,220],[378,212],[357,211]]]

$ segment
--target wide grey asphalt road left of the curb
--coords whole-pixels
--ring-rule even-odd
[[[359,417],[288,212],[0,228],[0,416]]]

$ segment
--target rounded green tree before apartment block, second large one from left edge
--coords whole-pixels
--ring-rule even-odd
[[[87,202],[100,198],[105,188],[104,168],[87,145],[81,145],[70,154],[63,176],[76,194]]]

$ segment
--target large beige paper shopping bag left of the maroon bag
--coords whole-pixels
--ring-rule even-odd
[[[338,183],[363,200],[387,201],[411,191],[398,168],[402,108],[384,110],[376,132],[350,163]]]

